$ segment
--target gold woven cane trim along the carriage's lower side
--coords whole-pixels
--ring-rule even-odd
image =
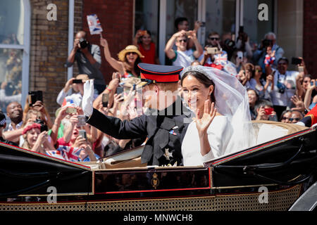
[[[261,193],[213,195],[192,198],[164,198],[85,203],[1,203],[0,211],[285,211],[297,200],[301,185],[268,192],[268,203],[260,203]]]

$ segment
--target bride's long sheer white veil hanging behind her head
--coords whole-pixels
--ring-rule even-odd
[[[225,155],[254,146],[256,142],[251,124],[249,98],[247,90],[239,80],[216,68],[201,65],[185,68],[181,76],[190,71],[201,72],[215,84],[217,111],[228,117],[233,130]]]

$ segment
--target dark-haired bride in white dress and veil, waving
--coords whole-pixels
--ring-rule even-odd
[[[254,145],[249,100],[232,75],[201,65],[182,71],[185,102],[196,112],[182,141],[184,166],[235,153]]]

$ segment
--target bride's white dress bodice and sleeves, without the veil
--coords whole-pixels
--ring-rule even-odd
[[[225,154],[232,136],[232,127],[228,121],[228,117],[223,115],[214,117],[209,125],[207,134],[211,150],[203,156],[200,152],[196,123],[193,121],[189,124],[184,140],[182,141],[184,166],[204,165],[204,162],[208,162],[213,158],[218,158]]]

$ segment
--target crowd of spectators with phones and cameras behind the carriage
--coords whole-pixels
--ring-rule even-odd
[[[296,123],[316,105],[317,81],[309,75],[303,58],[299,57],[300,63],[296,65],[299,71],[288,70],[290,62],[283,57],[285,51],[276,43],[273,32],[268,32],[256,49],[250,46],[249,37],[242,30],[236,40],[230,33],[224,33],[220,39],[220,34],[210,32],[203,48],[197,39],[201,25],[197,22],[189,30],[188,20],[178,18],[176,32],[166,43],[167,58],[173,65],[184,68],[204,65],[236,76],[247,89],[251,120]],[[102,133],[85,123],[80,107],[84,83],[94,79],[93,105],[101,113],[121,120],[147,113],[150,105],[144,104],[135,86],[140,82],[138,63],[160,64],[151,32],[137,31],[132,45],[120,51],[118,59],[111,56],[108,41],[101,38],[106,62],[117,71],[107,86],[99,70],[100,47],[89,44],[86,36],[82,31],[76,34],[67,65],[72,66],[76,61],[80,75],[69,79],[56,96],[60,108],[56,110],[55,120],[51,120],[42,99],[32,101],[27,96],[24,109],[12,100],[6,107],[9,124],[0,113],[2,142],[76,162],[98,160],[144,143],[145,136],[118,140]]]

